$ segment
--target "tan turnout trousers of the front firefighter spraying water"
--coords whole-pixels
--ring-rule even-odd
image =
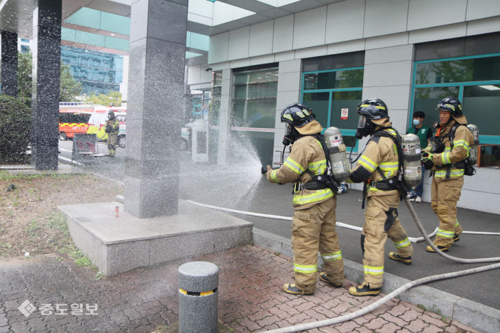
[[[335,230],[337,198],[298,209],[292,218],[292,251],[295,284],[303,291],[316,290],[318,251],[332,282],[344,281],[344,262]]]

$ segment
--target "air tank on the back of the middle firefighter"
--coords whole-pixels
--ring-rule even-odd
[[[406,186],[415,187],[422,181],[422,163],[420,155],[420,139],[414,134],[403,135],[401,139],[403,151],[403,172]]]

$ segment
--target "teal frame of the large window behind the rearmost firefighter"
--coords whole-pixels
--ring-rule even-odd
[[[458,100],[463,101],[464,98],[464,87],[471,85],[499,85],[499,80],[489,80],[489,81],[467,81],[467,82],[449,82],[449,83],[416,83],[416,67],[418,64],[428,64],[432,62],[451,62],[453,60],[465,60],[465,59],[478,59],[487,57],[499,57],[500,53],[487,53],[482,55],[464,55],[462,57],[448,57],[441,59],[430,59],[430,60],[418,60],[413,64],[412,71],[412,99],[410,102],[410,114],[408,115],[407,128],[412,126],[413,112],[414,112],[414,102],[415,102],[415,90],[417,88],[436,88],[436,87],[458,87]],[[480,130],[480,129],[479,129]],[[499,144],[500,135],[482,135],[479,134],[479,144]]]

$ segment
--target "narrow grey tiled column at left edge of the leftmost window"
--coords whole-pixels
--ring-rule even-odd
[[[229,149],[229,105],[231,103],[231,69],[222,71],[221,109],[219,110],[217,164],[226,165]]]

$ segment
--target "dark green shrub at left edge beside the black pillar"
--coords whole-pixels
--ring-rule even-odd
[[[0,94],[0,164],[27,163],[31,109],[25,98]]]

